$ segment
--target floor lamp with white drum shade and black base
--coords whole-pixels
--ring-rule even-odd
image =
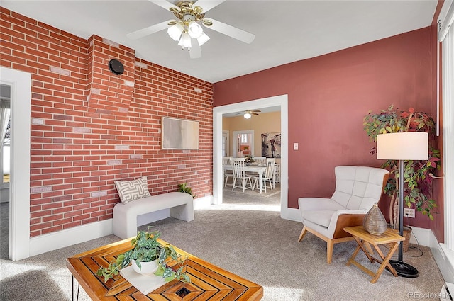
[[[428,160],[427,132],[392,132],[377,135],[377,159],[399,160],[399,235],[404,234],[404,161]],[[399,244],[399,260],[389,263],[397,275],[418,277],[418,270],[403,260],[403,242]]]

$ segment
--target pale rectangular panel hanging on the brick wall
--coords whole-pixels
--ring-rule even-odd
[[[161,149],[199,149],[199,122],[162,117]]]

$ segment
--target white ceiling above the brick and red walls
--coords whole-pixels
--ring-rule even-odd
[[[172,2],[172,3],[175,3]],[[431,25],[437,0],[233,1],[206,17],[256,35],[245,44],[209,28],[202,57],[167,30],[139,40],[127,33],[175,18],[150,1],[1,1],[1,6],[82,38],[99,35],[135,50],[136,57],[216,83]]]

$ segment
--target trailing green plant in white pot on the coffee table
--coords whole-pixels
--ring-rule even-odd
[[[161,276],[162,278],[165,278],[166,281],[177,279],[184,283],[191,282],[189,276],[185,271],[183,271],[184,261],[181,256],[177,254],[173,246],[170,244],[162,246],[160,242],[157,242],[159,237],[160,232],[158,231],[139,231],[137,236],[131,239],[133,249],[128,250],[123,254],[119,254],[116,261],[112,261],[107,268],[101,266],[101,268],[96,271],[96,275],[103,276],[104,282],[106,282],[109,278],[113,278],[118,275],[120,270],[129,266],[130,263],[133,264],[134,271],[138,271],[140,273],[146,263],[155,261],[155,271],[151,271],[149,273]],[[172,268],[166,265],[165,262],[169,257],[177,261],[179,265],[177,271],[172,270]]]

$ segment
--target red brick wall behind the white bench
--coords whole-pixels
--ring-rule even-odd
[[[152,195],[182,182],[212,194],[212,84],[0,11],[1,66],[32,74],[31,237],[111,218],[119,179],[148,176]],[[161,150],[162,116],[199,121],[199,150]]]

